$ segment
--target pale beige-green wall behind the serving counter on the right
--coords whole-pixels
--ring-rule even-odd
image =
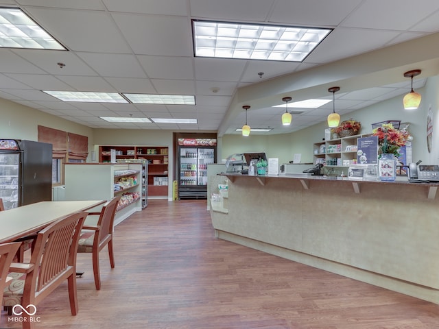
[[[413,141],[413,160],[423,160],[423,163],[439,163],[439,77],[429,77],[427,85],[418,91],[423,95],[420,108],[418,110],[407,111],[403,109],[401,96],[388,99],[357,110],[355,112],[342,115],[342,121],[355,119],[361,122],[361,134],[372,132],[372,123],[386,120],[401,120],[401,123],[410,123],[409,131],[414,136]],[[409,90],[407,90],[408,92]],[[433,148],[431,153],[427,151],[426,127],[427,110],[431,106],[434,113],[434,122],[437,124],[433,132]],[[335,102],[337,108],[337,101]],[[279,118],[280,120],[280,118]],[[294,121],[294,117],[293,117]],[[250,133],[250,136],[225,135],[222,137],[222,158],[227,158],[230,154],[243,153],[250,151],[265,151],[270,158],[279,158],[279,163],[285,163],[293,159],[294,154],[302,154],[301,162],[313,162],[313,143],[318,143],[324,138],[324,130],[327,123],[322,122],[307,129],[293,132],[291,134],[278,134],[262,136]],[[265,149],[263,149],[265,147]]]

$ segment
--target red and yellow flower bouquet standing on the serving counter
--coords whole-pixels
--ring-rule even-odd
[[[372,130],[373,136],[378,136],[379,154],[394,154],[399,157],[399,149],[411,139],[407,127],[397,130],[392,123],[384,123]]]

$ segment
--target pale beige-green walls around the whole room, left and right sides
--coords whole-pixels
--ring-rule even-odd
[[[361,121],[361,133],[364,134],[371,132],[371,124],[379,121],[401,120],[410,123],[410,132],[414,136],[413,160],[421,159],[423,163],[438,164],[438,89],[439,77],[429,77],[426,86],[417,90],[423,95],[423,101],[418,110],[403,110],[402,97],[398,96],[343,115],[342,120],[353,118]],[[434,122],[436,123],[431,153],[427,151],[426,143],[427,110],[429,107],[434,112]],[[335,103],[335,108],[337,108],[337,103]],[[36,141],[38,138],[37,126],[45,125],[88,136],[89,152],[93,151],[93,145],[163,145],[169,147],[170,154],[173,151],[171,130],[92,129],[5,99],[0,99],[0,109],[0,138]],[[325,128],[327,125],[323,122],[292,134],[268,136],[250,134],[248,137],[239,134],[225,135],[218,141],[218,161],[227,158],[230,154],[265,151],[269,158],[279,158],[279,163],[292,160],[294,154],[302,154],[302,162],[312,162],[312,145],[322,141]],[[172,157],[169,160],[169,168],[171,169],[174,165]]]

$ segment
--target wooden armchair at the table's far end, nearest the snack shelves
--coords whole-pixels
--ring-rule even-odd
[[[99,275],[99,252],[108,245],[108,256],[110,257],[111,268],[115,267],[115,256],[112,247],[112,232],[115,221],[115,212],[120,195],[110,199],[104,206],[101,212],[89,212],[88,215],[99,215],[97,224],[95,226],[84,225],[84,230],[81,233],[78,252],[88,252],[93,254],[93,273],[95,276],[95,287],[97,290],[101,289],[101,278]],[[86,231],[88,230],[88,232]],[[91,232],[91,231],[92,232]]]

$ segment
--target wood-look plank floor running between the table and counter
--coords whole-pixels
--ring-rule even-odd
[[[116,268],[78,255],[80,311],[67,284],[38,305],[36,328],[431,329],[439,306],[215,239],[206,200],[150,199],[115,230]],[[0,328],[21,328],[2,313]]]

